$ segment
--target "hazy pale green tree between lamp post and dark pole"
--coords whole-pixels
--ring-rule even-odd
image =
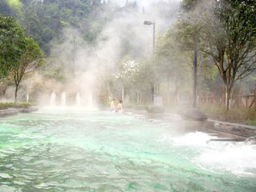
[[[156,46],[156,75],[167,80],[167,92],[170,93],[169,84],[174,82],[174,102],[178,101],[179,90],[182,82],[190,77],[191,53],[179,50],[179,43],[174,38],[174,29],[158,38]]]

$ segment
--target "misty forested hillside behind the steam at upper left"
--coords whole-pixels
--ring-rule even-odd
[[[120,8],[111,1],[102,3],[101,0],[22,0],[22,6],[14,9],[6,2],[2,0],[0,3],[0,10],[5,10],[1,13],[14,15],[46,56],[50,55],[51,40],[60,38],[64,28],[78,29],[86,43],[94,45],[103,27],[115,14],[138,8],[136,2]]]

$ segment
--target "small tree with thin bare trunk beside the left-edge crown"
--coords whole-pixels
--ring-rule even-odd
[[[18,86],[22,78],[43,64],[43,53],[38,43],[32,38],[25,38],[26,46],[20,60],[10,70],[15,84],[14,102],[17,102]]]

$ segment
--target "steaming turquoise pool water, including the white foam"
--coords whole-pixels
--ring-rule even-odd
[[[256,148],[179,122],[41,110],[0,120],[0,191],[256,191]]]

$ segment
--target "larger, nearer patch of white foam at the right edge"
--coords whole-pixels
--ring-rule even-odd
[[[211,142],[194,161],[210,170],[256,177],[256,146],[250,143]]]

